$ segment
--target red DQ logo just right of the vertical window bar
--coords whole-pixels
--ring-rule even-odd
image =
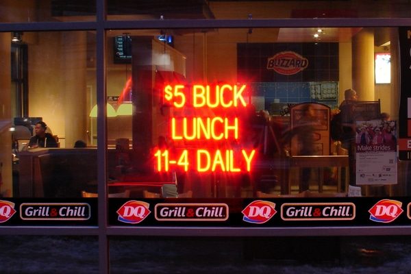
[[[117,210],[119,221],[123,223],[140,223],[151,213],[149,206],[150,204],[144,201],[127,201]]]

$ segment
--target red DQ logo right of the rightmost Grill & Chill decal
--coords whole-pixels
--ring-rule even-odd
[[[384,199],[375,203],[369,210],[370,220],[379,223],[390,223],[403,212],[400,201]]]

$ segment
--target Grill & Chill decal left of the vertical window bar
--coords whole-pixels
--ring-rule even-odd
[[[22,220],[84,221],[90,219],[88,203],[22,203]]]

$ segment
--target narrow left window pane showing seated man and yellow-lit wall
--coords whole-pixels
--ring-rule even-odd
[[[1,196],[97,192],[95,33],[24,32],[20,38],[3,58],[12,69],[3,74],[11,84],[3,92],[10,112],[2,134],[8,153],[1,154]]]

